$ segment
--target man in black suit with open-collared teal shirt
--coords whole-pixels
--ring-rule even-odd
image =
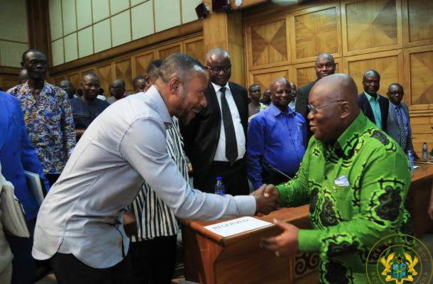
[[[380,75],[376,70],[368,70],[362,78],[364,92],[358,96],[358,107],[373,124],[386,132],[389,101],[378,94]]]

